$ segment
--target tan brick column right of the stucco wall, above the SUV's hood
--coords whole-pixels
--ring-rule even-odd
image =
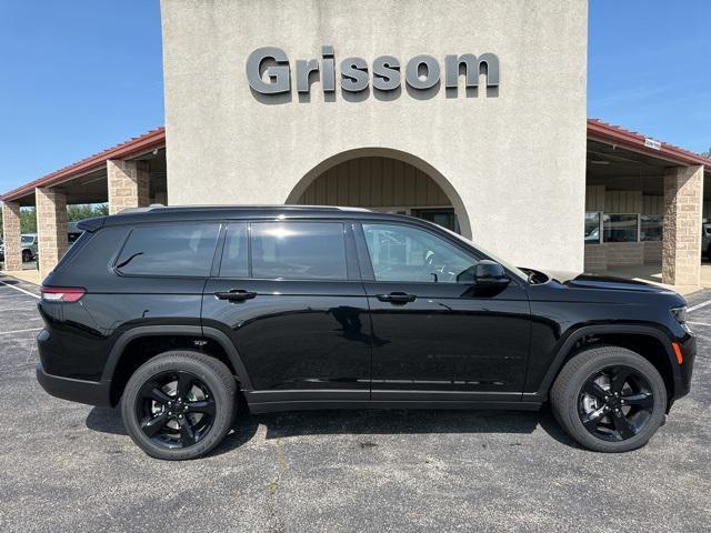
[[[701,283],[701,212],[703,167],[680,167],[664,172],[664,233],[662,282]]]

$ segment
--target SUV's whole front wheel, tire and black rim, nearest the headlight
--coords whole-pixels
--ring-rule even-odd
[[[627,452],[647,444],[662,424],[667,386],[640,354],[620,346],[599,346],[565,363],[550,400],[558,423],[582,446],[595,452]]]

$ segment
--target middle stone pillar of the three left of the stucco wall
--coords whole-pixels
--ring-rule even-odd
[[[46,187],[34,189],[40,276],[44,278],[62,258],[67,242],[67,194]]]

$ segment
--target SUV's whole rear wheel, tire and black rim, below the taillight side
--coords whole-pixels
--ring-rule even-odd
[[[237,382],[224,363],[200,352],[171,351],[131,375],[121,418],[148,455],[182,461],[206,455],[222,442],[236,406]]]

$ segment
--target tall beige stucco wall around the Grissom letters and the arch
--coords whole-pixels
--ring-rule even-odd
[[[581,270],[585,161],[587,1],[162,0],[168,200],[280,203],[311,169],[343,151],[384,147],[437,169],[457,190],[473,239],[518,264]],[[403,66],[427,53],[492,52],[498,97],[430,99],[404,89],[349,101],[296,92],[297,59]],[[244,73],[254,49],[283,49],[289,101],[257,99]],[[337,83],[340,78],[337,73]],[[447,190],[447,183],[440,183]],[[465,225],[465,224],[463,224]]]

